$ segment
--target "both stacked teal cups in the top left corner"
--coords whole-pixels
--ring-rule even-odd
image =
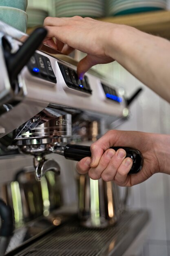
[[[0,20],[26,32],[28,0],[0,0]]]

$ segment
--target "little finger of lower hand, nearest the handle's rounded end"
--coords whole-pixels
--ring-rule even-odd
[[[126,157],[119,168],[117,169],[117,173],[114,177],[114,181],[119,186],[126,186],[127,175],[132,167],[133,161],[130,157]]]

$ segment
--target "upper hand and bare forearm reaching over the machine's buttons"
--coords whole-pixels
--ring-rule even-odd
[[[87,54],[77,65],[80,79],[93,65],[116,60],[170,102],[170,41],[134,27],[79,16],[47,17],[44,26],[49,31],[46,44],[64,54],[73,49]]]

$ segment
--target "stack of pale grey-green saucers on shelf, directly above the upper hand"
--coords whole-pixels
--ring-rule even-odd
[[[104,16],[104,0],[55,0],[56,17],[102,17]]]

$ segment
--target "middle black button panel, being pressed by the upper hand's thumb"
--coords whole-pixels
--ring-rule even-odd
[[[81,92],[86,92],[88,94],[92,94],[92,90],[89,85],[87,76],[84,76],[84,79],[80,80],[78,79],[75,70],[71,69],[70,67],[62,65],[61,63],[58,64],[62,72],[64,81],[69,88]]]

